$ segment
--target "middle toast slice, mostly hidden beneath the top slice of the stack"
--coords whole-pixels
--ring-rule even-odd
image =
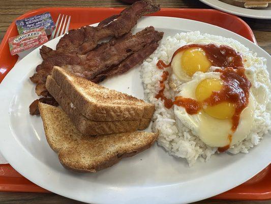
[[[140,120],[96,121],[86,118],[77,111],[75,105],[73,105],[69,97],[61,90],[50,75],[47,77],[46,88],[66,114],[72,119],[77,129],[84,135],[133,132],[139,127]],[[140,127],[142,128],[147,126],[149,121],[145,121],[144,119],[140,124]]]

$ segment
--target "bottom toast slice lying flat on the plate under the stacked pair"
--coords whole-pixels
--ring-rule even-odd
[[[39,103],[39,110],[48,144],[58,153],[61,164],[74,171],[96,172],[110,167],[149,148],[158,137],[147,132],[84,136],[62,109]]]

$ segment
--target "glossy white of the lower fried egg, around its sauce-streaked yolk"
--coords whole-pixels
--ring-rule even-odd
[[[198,84],[208,78],[220,79],[219,72],[197,72],[190,82],[178,87],[179,93],[176,96],[196,99],[195,90]],[[254,120],[255,98],[250,93],[249,105],[240,115],[237,130],[232,134],[230,119],[218,119],[206,114],[201,110],[198,114],[190,115],[185,108],[174,105],[174,114],[178,127],[184,124],[192,130],[193,134],[199,137],[205,144],[212,147],[224,147],[229,144],[228,135],[232,134],[230,146],[242,141],[250,133]]]

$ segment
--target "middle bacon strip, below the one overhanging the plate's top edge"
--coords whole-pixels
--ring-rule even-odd
[[[48,57],[30,79],[34,83],[45,83],[53,66],[62,66],[81,77],[93,80],[98,74],[117,66],[128,56],[150,43],[158,42],[162,37],[162,32],[155,31],[154,27],[147,27],[133,36],[128,33],[122,38],[102,43],[87,55],[59,54]]]

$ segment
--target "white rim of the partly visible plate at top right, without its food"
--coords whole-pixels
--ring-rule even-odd
[[[231,13],[238,16],[244,16],[249,18],[259,18],[259,19],[271,19],[271,6],[267,8],[256,8],[256,9],[247,9],[242,7],[233,6],[226,4],[219,0],[199,0],[204,4],[209,5],[210,7],[216,8],[227,13]]]

